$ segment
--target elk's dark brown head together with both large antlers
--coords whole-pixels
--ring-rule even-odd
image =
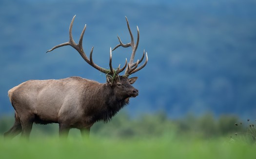
[[[59,45],[53,47],[52,49],[48,50],[47,52],[52,51],[55,48],[70,45],[71,47],[75,48],[79,52],[79,54],[84,59],[84,61],[86,61],[92,67],[96,68],[98,71],[106,74],[107,84],[109,84],[113,88],[115,94],[119,94],[120,96],[125,97],[125,98],[136,97],[138,95],[138,90],[135,89],[132,86],[132,84],[137,80],[137,77],[133,77],[133,78],[130,78],[130,79],[128,79],[128,77],[131,74],[133,74],[133,73],[139,71],[140,69],[142,69],[148,62],[148,55],[146,53],[146,60],[145,60],[144,64],[142,64],[138,67],[138,64],[140,64],[144,59],[145,50],[143,51],[143,55],[142,55],[141,59],[138,60],[137,62],[134,62],[134,57],[135,57],[135,53],[136,53],[136,50],[138,48],[138,42],[139,42],[138,26],[137,26],[138,37],[137,37],[137,42],[135,44],[133,34],[132,34],[130,26],[129,26],[128,19],[125,16],[126,22],[127,22],[127,27],[128,27],[128,30],[129,30],[129,33],[130,33],[130,36],[131,36],[131,42],[127,43],[127,44],[123,44],[121,42],[119,36],[118,36],[119,44],[114,49],[110,48],[110,58],[109,58],[109,68],[110,69],[105,69],[105,68],[102,68],[102,67],[98,66],[97,64],[95,64],[93,62],[92,54],[93,54],[93,48],[94,47],[91,49],[89,58],[84,53],[84,50],[83,50],[83,47],[82,47],[82,40],[83,40],[83,35],[84,35],[85,29],[86,29],[86,25],[84,26],[83,31],[81,32],[81,35],[80,35],[80,38],[79,38],[79,43],[76,44],[75,41],[73,40],[72,27],[73,27],[73,22],[74,22],[75,17],[76,16],[73,17],[73,19],[71,21],[71,24],[70,24],[70,27],[69,27],[69,41],[66,42],[66,43],[59,44]],[[124,48],[127,48],[127,47],[132,48],[131,58],[130,58],[130,61],[129,61],[128,64],[127,64],[127,59],[125,60],[125,64],[122,68],[120,68],[120,64],[119,64],[118,68],[114,69],[112,67],[112,51],[114,51],[116,48],[118,48],[120,46],[124,47]],[[120,76],[119,73],[121,73],[124,70],[125,70],[124,75]]]

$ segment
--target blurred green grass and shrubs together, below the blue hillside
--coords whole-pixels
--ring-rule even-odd
[[[34,125],[29,141],[19,136],[3,141],[13,122],[1,121],[0,159],[256,159],[256,121],[229,116],[174,122],[162,115],[139,120],[118,115],[95,124],[88,140],[78,129],[61,140],[58,125]]]

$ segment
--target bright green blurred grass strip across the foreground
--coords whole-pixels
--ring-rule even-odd
[[[256,145],[217,139],[109,139],[91,136],[0,139],[0,159],[256,159]]]

